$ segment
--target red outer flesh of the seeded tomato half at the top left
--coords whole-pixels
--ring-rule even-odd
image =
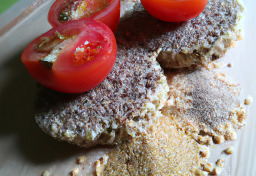
[[[59,21],[59,14],[63,7],[74,0],[56,0],[54,4],[52,4],[49,12],[48,12],[48,22],[54,28],[56,26],[61,26],[65,22]],[[109,2],[108,7],[104,8],[100,12],[97,12],[91,19],[98,20],[106,24],[112,32],[116,32],[118,27],[119,18],[120,18],[120,0],[107,0]],[[70,20],[72,21],[72,20]]]

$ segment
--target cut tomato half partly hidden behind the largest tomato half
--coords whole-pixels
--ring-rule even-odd
[[[98,20],[116,32],[120,0],[56,0],[48,12],[48,22],[52,27],[80,18]]]

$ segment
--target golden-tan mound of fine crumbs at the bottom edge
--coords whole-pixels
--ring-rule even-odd
[[[202,146],[164,116],[136,122],[134,138],[104,156],[97,176],[194,176],[206,160]],[[106,160],[107,157],[107,160]]]

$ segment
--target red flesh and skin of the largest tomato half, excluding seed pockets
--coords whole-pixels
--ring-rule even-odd
[[[49,69],[40,60],[49,53],[42,52],[34,46],[40,44],[40,38],[53,36],[56,31],[74,37]],[[76,48],[85,41],[97,40],[103,46],[98,55],[80,66],[75,66],[73,58]],[[22,53],[21,60],[30,75],[40,84],[58,92],[81,93],[96,87],[112,70],[116,60],[116,40],[108,26],[96,20],[83,18],[52,28],[33,40]]]

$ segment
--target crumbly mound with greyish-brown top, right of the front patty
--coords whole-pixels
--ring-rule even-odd
[[[247,112],[238,96],[241,86],[206,68],[165,71],[170,87],[162,114],[198,142],[235,140]]]

